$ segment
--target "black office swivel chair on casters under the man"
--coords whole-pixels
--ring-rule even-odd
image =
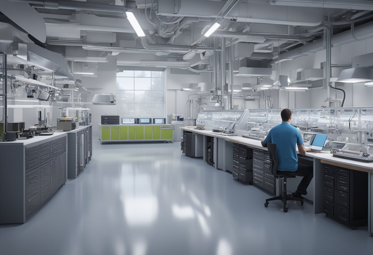
[[[283,211],[284,213],[286,213],[288,211],[288,208],[286,208],[286,201],[288,200],[300,201],[301,205],[303,205],[304,201],[301,198],[295,198],[295,197],[292,197],[291,195],[286,194],[286,178],[295,178],[296,176],[292,172],[277,171],[278,158],[277,158],[277,153],[276,153],[276,144],[267,144],[266,147],[268,148],[268,152],[269,152],[272,174],[277,179],[282,179],[283,183],[282,183],[282,195],[266,199],[266,202],[264,203],[264,207],[268,207],[269,201],[281,200],[283,202]]]

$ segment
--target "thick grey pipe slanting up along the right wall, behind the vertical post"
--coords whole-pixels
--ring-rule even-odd
[[[358,40],[365,40],[373,37],[373,21],[357,26],[354,30],[354,35],[351,34],[351,30],[344,31],[342,33],[333,35],[331,38],[332,47],[344,45],[350,42]],[[289,50],[285,53],[280,54],[280,59],[294,59],[296,57],[305,56],[304,53],[316,52],[324,49],[323,40],[317,40],[305,44],[299,48]],[[277,61],[277,58],[270,60],[268,63],[273,65]]]

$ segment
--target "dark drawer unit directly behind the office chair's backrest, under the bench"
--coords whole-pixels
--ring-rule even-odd
[[[276,194],[276,178],[270,169],[270,159],[267,151],[253,151],[253,183],[271,194]]]

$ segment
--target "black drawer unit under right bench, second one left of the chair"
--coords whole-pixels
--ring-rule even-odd
[[[253,157],[251,149],[233,143],[233,180],[253,183]]]

